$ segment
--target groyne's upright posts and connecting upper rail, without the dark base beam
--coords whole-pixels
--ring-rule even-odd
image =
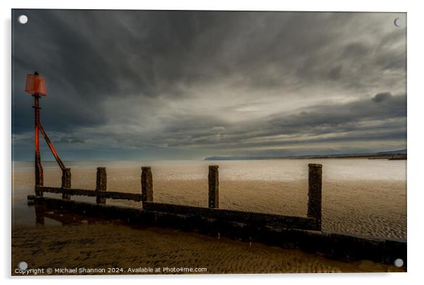
[[[263,213],[249,213],[236,210],[219,209],[219,172],[218,165],[210,165],[208,172],[208,208],[188,205],[173,205],[154,202],[153,175],[151,167],[142,167],[141,193],[124,193],[107,191],[106,167],[97,167],[96,189],[71,188],[70,169],[62,170],[61,187],[35,186],[35,193],[42,197],[44,193],[62,194],[64,201],[70,201],[71,196],[96,197],[96,204],[105,204],[106,199],[132,200],[142,202],[142,209],[170,213],[175,215],[201,215],[202,217],[227,219],[233,222],[249,221],[261,226],[289,227],[292,229],[308,229],[320,231],[321,204],[322,204],[322,165],[310,164],[308,179],[308,215],[294,217],[284,215],[270,215]]]

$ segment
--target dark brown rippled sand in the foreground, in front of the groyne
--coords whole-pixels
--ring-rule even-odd
[[[29,239],[29,237],[31,237]],[[13,228],[12,265],[44,268],[192,267],[207,273],[403,272],[368,260],[339,261],[293,249],[112,223]],[[106,272],[107,273],[107,272]],[[154,273],[151,273],[154,274]],[[158,273],[156,273],[158,274]]]

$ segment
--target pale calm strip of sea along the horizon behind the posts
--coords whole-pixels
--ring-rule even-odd
[[[206,179],[208,165],[219,165],[223,180],[287,181],[306,179],[308,163],[323,164],[323,179],[340,180],[398,180],[406,181],[406,160],[355,159],[282,159],[282,160],[171,160],[171,161],[113,161],[66,162],[71,169],[134,169],[151,166],[154,179]],[[44,170],[58,169],[56,162],[43,163]],[[14,171],[33,170],[32,162],[15,162]]]

